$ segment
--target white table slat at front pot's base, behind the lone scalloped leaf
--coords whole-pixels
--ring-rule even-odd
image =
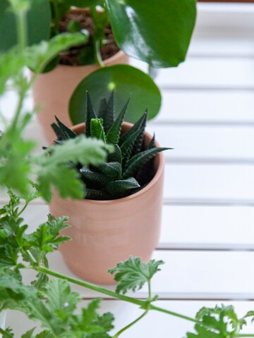
[[[152,281],[153,293],[162,299],[254,299],[254,270],[250,268],[253,251],[156,250],[152,258],[165,262]],[[67,268],[59,252],[49,255],[49,266],[78,278]],[[29,282],[35,274],[26,270],[24,275]],[[107,287],[115,289],[114,285]],[[73,288],[85,297],[96,296],[82,287]],[[146,297],[147,287],[134,296]]]

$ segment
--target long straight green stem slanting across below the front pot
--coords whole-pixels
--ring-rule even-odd
[[[31,267],[31,268],[35,269],[36,271],[38,271],[40,273],[46,273],[47,275],[51,275],[53,277],[60,278],[61,280],[67,280],[68,282],[71,282],[73,284],[80,285],[80,287],[85,287],[87,289],[99,292],[101,294],[106,294],[107,296],[111,296],[115,299],[119,299],[120,301],[127,301],[128,303],[133,303],[133,304],[138,305],[138,306],[143,307],[143,308],[145,308],[145,306],[147,306],[147,301],[142,301],[140,299],[135,299],[135,298],[132,298],[132,297],[129,297],[129,296],[124,296],[123,294],[117,294],[116,292],[104,289],[103,287],[98,287],[95,284],[91,284],[91,283],[85,282],[83,280],[76,280],[73,277],[68,277],[68,276],[63,275],[61,273],[56,273],[56,271],[49,270],[48,268],[44,268],[43,266]],[[198,323],[198,320],[195,320],[194,318],[188,317],[186,315],[181,315],[180,313],[176,313],[174,311],[169,311],[165,308],[159,308],[158,306],[153,306],[150,303],[148,303],[148,306],[149,306],[149,310],[155,310],[155,311],[167,313],[169,315],[174,315],[174,317],[183,318],[185,320],[189,320],[191,322]]]

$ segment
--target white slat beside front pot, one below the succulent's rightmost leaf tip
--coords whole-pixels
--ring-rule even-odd
[[[165,168],[164,197],[171,201],[253,201],[253,165],[170,165]]]

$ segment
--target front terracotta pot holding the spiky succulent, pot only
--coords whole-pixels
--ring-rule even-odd
[[[131,123],[124,123],[123,131]],[[84,124],[73,127],[78,134]],[[152,136],[145,132],[145,143]],[[158,146],[158,145],[157,145]],[[68,215],[71,227],[63,231],[71,241],[60,246],[68,267],[84,280],[111,284],[107,272],[117,262],[129,256],[149,261],[159,241],[164,155],[155,156],[156,173],[152,181],[139,192],[112,201],[63,200],[54,194],[49,206],[56,217]]]

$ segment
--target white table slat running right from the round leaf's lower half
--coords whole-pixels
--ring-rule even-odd
[[[162,90],[162,108],[150,123],[253,123],[254,94],[248,91]]]

